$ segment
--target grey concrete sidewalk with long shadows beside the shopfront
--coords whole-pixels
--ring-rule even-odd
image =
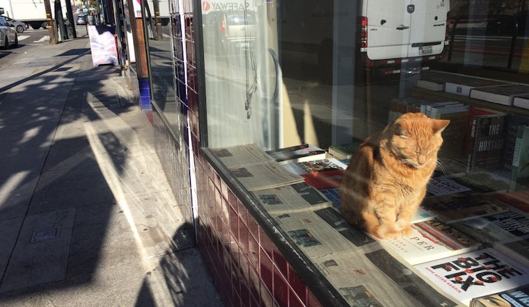
[[[222,306],[119,67],[88,38],[10,51],[0,306]]]

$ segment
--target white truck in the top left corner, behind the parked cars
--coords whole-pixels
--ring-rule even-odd
[[[47,28],[44,0],[0,0],[0,8],[3,8],[4,16],[24,22],[31,28]]]

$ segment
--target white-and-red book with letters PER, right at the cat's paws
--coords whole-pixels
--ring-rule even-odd
[[[393,254],[410,265],[462,254],[480,247],[479,242],[439,219],[418,222],[411,227],[411,235],[383,241]]]

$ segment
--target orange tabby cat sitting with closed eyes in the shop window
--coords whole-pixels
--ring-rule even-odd
[[[342,179],[340,212],[347,222],[381,239],[411,235],[449,123],[406,113],[367,138]]]

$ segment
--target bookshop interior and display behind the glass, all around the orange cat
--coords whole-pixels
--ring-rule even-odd
[[[287,259],[343,305],[529,306],[529,3],[204,3],[200,147]],[[340,186],[405,113],[450,124],[411,229],[380,239]]]

